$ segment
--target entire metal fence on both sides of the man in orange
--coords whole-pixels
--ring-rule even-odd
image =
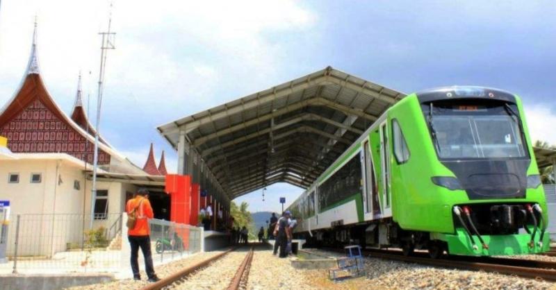
[[[126,214],[120,213],[17,214],[8,236],[10,264],[0,264],[0,271],[126,271],[130,249],[125,223]],[[155,264],[202,250],[201,228],[158,219],[150,219],[149,227]]]

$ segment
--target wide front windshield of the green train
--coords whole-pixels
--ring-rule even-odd
[[[440,101],[423,109],[441,159],[528,156],[516,105]]]

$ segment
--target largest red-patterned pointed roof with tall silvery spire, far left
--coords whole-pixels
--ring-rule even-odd
[[[48,134],[47,134],[48,133]],[[40,76],[37,23],[31,55],[22,82],[12,98],[0,108],[0,134],[10,139],[13,153],[66,153],[85,162],[92,155],[95,137],[58,107]],[[44,136],[44,137],[43,137]],[[99,164],[120,173],[144,173],[111,146],[99,142]],[[108,168],[107,168],[108,169]]]

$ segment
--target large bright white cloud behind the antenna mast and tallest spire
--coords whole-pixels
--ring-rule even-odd
[[[126,89],[141,104],[163,94],[169,101],[215,105],[214,90],[227,81],[264,83],[280,67],[284,50],[266,33],[300,30],[314,17],[295,1],[114,1],[116,50],[109,51],[106,94]],[[33,17],[39,21],[39,58],[49,89],[74,92],[76,74],[92,71],[95,94],[99,31],[106,30],[108,1],[3,1],[0,11],[0,103],[6,101],[25,70]],[[256,71],[257,74],[253,74]],[[232,76],[230,76],[232,75]],[[247,84],[247,82],[246,82]],[[203,96],[203,98],[198,98]],[[233,96],[228,96],[233,97]],[[72,103],[71,98],[57,100]],[[117,104],[130,100],[117,99]]]

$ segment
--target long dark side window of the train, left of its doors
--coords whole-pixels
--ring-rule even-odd
[[[361,193],[361,174],[361,159],[357,154],[318,187],[319,211]]]

